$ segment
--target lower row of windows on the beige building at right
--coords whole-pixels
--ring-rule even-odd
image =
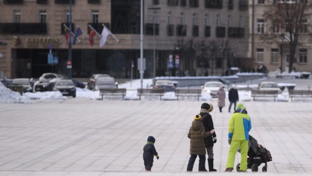
[[[271,48],[271,64],[277,64],[278,58],[280,56],[279,50],[277,48]],[[308,50],[307,49],[299,49],[299,61],[300,64],[307,64],[308,58]],[[256,62],[263,63],[264,61],[264,49],[257,48],[256,49]],[[289,54],[286,54],[286,62],[289,62]]]

